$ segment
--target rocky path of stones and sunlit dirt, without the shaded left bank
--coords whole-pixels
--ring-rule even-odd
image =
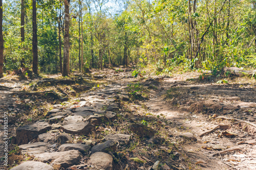
[[[95,80],[97,87],[78,98],[52,105],[41,120],[12,126],[13,130],[9,131],[15,134],[11,144],[18,147],[9,155],[8,167],[256,168],[253,126],[229,125],[236,122],[217,119],[226,116],[255,124],[255,85],[247,89],[232,88],[231,93],[236,91],[239,96],[234,101],[236,96],[223,92],[229,87],[220,90],[221,86],[209,82],[186,81],[199,74],[138,81],[131,77],[131,71],[94,71],[91,77],[83,79]],[[2,95],[3,106],[13,102],[8,95]],[[200,136],[219,124],[229,126]],[[1,163],[7,168],[4,161]]]

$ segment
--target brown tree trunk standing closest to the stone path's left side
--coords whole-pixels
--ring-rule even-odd
[[[69,75],[69,5],[70,0],[64,0],[65,4],[65,35],[64,35],[64,46],[63,46],[63,71],[62,76]]]

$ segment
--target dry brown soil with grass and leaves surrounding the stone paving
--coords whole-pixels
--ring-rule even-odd
[[[170,77],[143,75],[143,78],[134,78],[131,76],[132,68],[122,67],[91,71],[83,77],[84,81],[80,84],[38,86],[37,92],[53,90],[61,95],[61,99],[50,101],[40,93],[28,94],[32,92],[29,88],[31,84],[42,80],[40,77],[31,80],[10,75],[1,79],[2,86],[12,87],[1,89],[1,150],[6,140],[3,137],[4,112],[8,111],[10,139],[15,136],[17,127],[45,118],[53,105],[63,103],[63,98],[68,98],[67,107],[76,106],[77,99],[84,92],[91,92],[101,100],[100,92],[112,85],[120,86],[123,94],[130,98],[129,101],[118,100],[119,110],[115,111],[119,115],[118,119],[98,126],[96,133],[90,137],[72,137],[91,139],[96,145],[104,141],[104,136],[109,133],[132,135],[129,144],[118,146],[112,153],[114,157],[118,157],[118,161],[114,161],[114,169],[150,169],[157,160],[160,161],[159,169],[256,169],[256,127],[253,126],[256,124],[255,80],[247,77],[215,77],[207,72],[203,80],[202,73],[199,72]],[[61,75],[45,77],[61,79]],[[80,75],[73,74],[73,77]],[[222,79],[226,79],[228,83],[216,83]],[[138,91],[135,91],[136,84],[141,87]],[[26,93],[17,94],[19,91]],[[141,137],[129,129],[134,123],[144,124],[157,133],[152,138]],[[205,133],[218,125],[226,126],[219,126]],[[8,167],[32,159],[22,155],[14,147],[15,145],[9,144],[9,162],[12,164]],[[0,152],[0,157],[3,156],[4,150]],[[90,155],[84,156],[80,164],[84,164],[89,157]],[[145,163],[131,160],[133,157],[138,157]],[[0,167],[7,168],[2,160]],[[77,165],[72,168],[89,169],[89,166]]]

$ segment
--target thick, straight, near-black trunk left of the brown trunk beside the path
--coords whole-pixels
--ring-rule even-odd
[[[33,38],[32,38],[32,52],[33,52],[33,72],[38,74],[38,54],[37,54],[37,25],[36,25],[36,0],[33,0]]]

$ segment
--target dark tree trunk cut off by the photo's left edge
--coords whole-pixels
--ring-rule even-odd
[[[3,66],[4,66],[3,3],[2,3],[2,0],[0,0],[0,78],[4,77]]]

